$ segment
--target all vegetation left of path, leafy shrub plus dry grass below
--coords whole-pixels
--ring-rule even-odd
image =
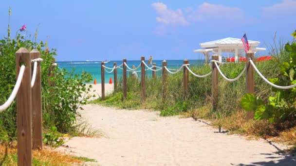
[[[10,15],[11,9],[9,9],[9,17]],[[47,40],[39,41],[37,30],[35,35],[31,36],[27,34],[26,28],[23,25],[16,32],[16,36],[12,36],[10,23],[8,23],[7,36],[0,37],[0,104],[9,98],[16,83],[16,51],[20,48],[30,51],[37,49],[43,59],[41,64],[43,142],[48,146],[56,147],[63,144],[63,135],[85,134],[81,130],[88,130],[87,123],[77,119],[79,118],[77,110],[89,99],[90,89],[86,88],[85,83],[91,81],[92,76],[86,72],[74,74],[73,71],[67,72],[65,69],[53,66],[56,49],[49,49]],[[53,74],[50,76],[50,73]],[[52,86],[50,81],[54,82],[55,86]],[[0,165],[10,166],[17,162],[16,148],[12,146],[16,143],[17,137],[16,116],[15,100],[11,106],[0,112]],[[42,157],[44,154],[49,156]],[[42,165],[48,163],[47,165],[50,166],[54,165],[54,161],[48,160],[49,158],[53,156],[62,158],[62,154],[50,152],[50,150],[34,152],[34,155],[37,157],[33,159],[33,164],[40,159],[47,161]],[[65,159],[67,158],[71,161],[70,163],[80,161],[73,156],[65,156]],[[58,163],[60,160],[56,159],[56,165],[60,165]]]

